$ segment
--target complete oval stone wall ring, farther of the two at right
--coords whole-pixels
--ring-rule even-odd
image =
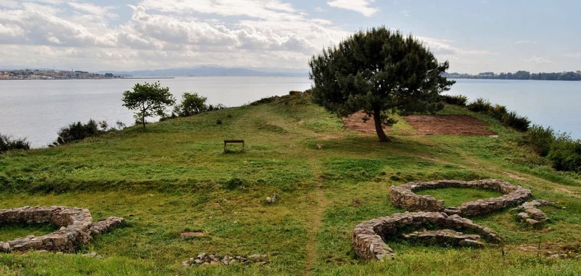
[[[478,199],[477,201],[464,202],[458,207],[444,208],[444,201],[431,195],[418,195],[414,190],[433,188],[481,188],[502,193],[501,197]],[[476,181],[438,180],[415,181],[390,188],[389,197],[392,204],[413,211],[445,212],[448,215],[475,216],[503,209],[511,205],[521,204],[529,199],[531,191],[521,186],[516,186],[507,181],[497,179],[484,179]]]

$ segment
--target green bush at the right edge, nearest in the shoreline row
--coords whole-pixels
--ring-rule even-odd
[[[566,133],[561,133],[555,137],[547,157],[557,170],[581,172],[581,140],[573,140]]]

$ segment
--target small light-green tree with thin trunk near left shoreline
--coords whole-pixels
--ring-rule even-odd
[[[145,118],[155,115],[163,117],[166,107],[175,103],[175,98],[167,87],[155,83],[135,83],[133,90],[123,92],[123,106],[135,110],[134,117],[145,129]]]

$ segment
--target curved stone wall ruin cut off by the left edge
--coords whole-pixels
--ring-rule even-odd
[[[30,235],[0,242],[0,252],[30,249],[74,252],[80,245],[87,244],[92,234],[104,233],[123,221],[121,217],[109,217],[94,223],[89,210],[63,206],[0,209],[0,224],[52,223],[60,226],[59,230],[40,237]]]

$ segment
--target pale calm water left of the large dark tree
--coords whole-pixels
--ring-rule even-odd
[[[132,125],[132,111],[121,97],[137,82],[156,79],[80,79],[53,81],[0,81],[0,133],[26,137],[33,147],[56,140],[56,133],[71,122],[89,118]],[[180,77],[159,79],[177,100],[183,92],[197,92],[208,103],[241,106],[289,90],[310,88],[308,78],[295,77]]]

